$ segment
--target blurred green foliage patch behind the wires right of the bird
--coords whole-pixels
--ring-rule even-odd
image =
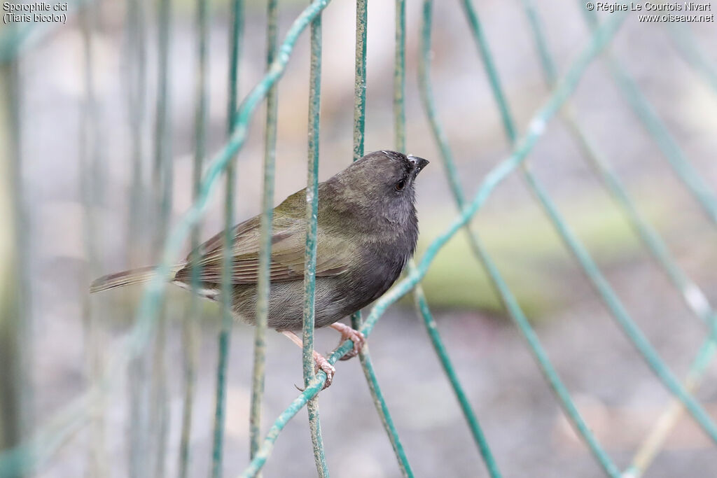
[[[657,229],[668,226],[674,206],[665,196],[638,204]],[[641,244],[611,199],[593,192],[581,194],[562,208],[570,226],[595,259],[610,266],[634,258]],[[421,221],[417,257],[445,230],[454,211],[447,209]],[[574,296],[573,265],[555,229],[533,204],[521,204],[511,214],[479,214],[475,230],[503,272],[508,285],[529,317],[541,317],[570,302]],[[423,280],[429,304],[503,313],[498,295],[475,255],[465,233],[457,234],[437,255]]]

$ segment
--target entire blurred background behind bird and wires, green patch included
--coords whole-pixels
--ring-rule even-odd
[[[394,3],[369,3],[366,150],[389,149],[394,147]],[[522,2],[474,4],[508,103],[524,132],[549,96],[549,88]],[[280,1],[280,38],[304,6],[304,2]],[[90,19],[89,43],[78,8]],[[566,0],[543,0],[537,5],[561,73],[589,39],[581,8],[578,2]],[[456,214],[419,100],[421,9],[421,2],[407,1],[407,149],[431,161],[418,182],[418,257]],[[140,12],[140,20],[133,12]],[[265,72],[265,3],[247,1],[245,14],[239,75],[242,96]],[[355,14],[355,3],[345,0],[334,0],[323,14],[320,181],[351,161]],[[209,15],[207,152],[211,157],[227,137],[228,2],[211,2]],[[167,92],[174,186],[170,225],[191,204],[196,5],[176,0],[171,16]],[[602,13],[600,18],[608,16]],[[153,209],[148,205],[156,201],[152,168],[158,31],[154,2],[120,0],[71,5],[67,24],[22,27],[32,31],[21,54],[2,65],[7,90],[1,106],[10,114],[4,113],[4,123],[0,123],[0,148],[4,149],[0,154],[5,163],[0,205],[7,213],[3,217],[9,218],[8,231],[11,224],[19,224],[23,239],[19,247],[13,247],[7,240],[12,236],[9,232],[0,244],[5,263],[3,313],[22,317],[12,326],[7,325],[12,320],[6,321],[3,330],[19,329],[23,342],[16,350],[2,335],[0,355],[9,360],[6,363],[19,360],[24,369],[19,380],[4,376],[0,387],[9,396],[13,383],[27,384],[21,393],[22,410],[16,413],[22,415],[24,427],[35,429],[87,390],[132,323],[141,287],[89,297],[91,279],[156,262],[155,219],[146,210]],[[717,64],[715,24],[688,27],[708,62]],[[9,31],[2,29],[5,32],[0,34]],[[670,25],[642,23],[637,14],[629,14],[612,42],[612,52],[635,77],[703,180],[714,188],[717,91],[680,54]],[[89,68],[88,57],[92,59]],[[305,187],[308,65],[309,38],[303,34],[278,87],[275,204]],[[511,148],[459,2],[441,1],[434,7],[432,80],[462,185],[472,195],[485,173],[506,158]],[[92,103],[88,103],[87,85],[91,85]],[[663,234],[680,266],[709,300],[717,301],[715,224],[675,176],[620,95],[604,62],[597,60],[588,68],[572,102],[584,130],[622,178],[640,211]],[[259,110],[237,158],[237,222],[260,212],[264,120]],[[19,155],[11,153],[15,145]],[[8,166],[17,157],[21,158],[19,168],[15,167],[18,163]],[[647,338],[675,374],[684,377],[707,328],[642,246],[561,120],[549,123],[529,161]],[[140,199],[134,207],[136,213],[143,212],[136,223],[143,232],[132,242],[128,224],[133,191]],[[18,198],[22,208],[13,209]],[[221,188],[212,194],[201,226],[202,239],[223,228],[223,198]],[[536,326],[587,423],[617,464],[627,467],[668,403],[668,392],[614,324],[520,175],[513,174],[500,184],[473,224]],[[184,250],[189,250],[189,243]],[[561,414],[464,234],[457,234],[442,249],[423,285],[503,474],[602,476]],[[181,325],[188,305],[188,293],[174,287],[168,290],[166,363],[161,372],[167,383],[167,476],[176,475],[179,463],[184,397]],[[18,307],[22,315],[13,315]],[[189,476],[209,472],[219,317],[216,304],[202,306]],[[319,351],[331,350],[338,341],[333,330],[317,330],[316,337]],[[369,342],[389,409],[417,475],[487,476],[412,301],[391,307]],[[226,476],[238,474],[248,463],[252,344],[253,329],[235,324],[228,373]],[[298,348],[273,331],[267,333],[267,348],[265,430],[297,395],[294,384],[302,382]],[[133,397],[128,376],[130,383],[152,380],[152,353],[145,355],[148,376],[133,378],[138,370],[129,368],[115,377],[95,425],[68,439],[37,470],[37,476],[128,476]],[[717,419],[716,379],[717,365],[711,363],[696,396]],[[333,386],[320,394],[320,406],[326,457],[333,474],[400,476],[358,360],[337,365]],[[4,426],[6,439],[11,434],[9,425]],[[156,450],[152,448],[155,435],[147,431],[147,436],[147,454],[156,459],[151,452]],[[678,423],[646,474],[716,475],[717,449],[688,418]],[[282,432],[265,476],[315,476],[305,410]]]

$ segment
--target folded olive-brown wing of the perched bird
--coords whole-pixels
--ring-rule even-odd
[[[296,217],[277,217],[272,227],[271,262],[272,282],[302,279],[306,221]],[[260,221],[258,217],[234,226],[232,249],[232,284],[255,284],[259,271]],[[350,265],[350,249],[336,244],[319,229],[317,233],[316,277],[329,277],[346,272]],[[196,254],[189,254],[186,267],[176,274],[176,280],[189,282],[191,262],[199,256],[199,282],[219,283],[224,270],[224,232],[201,244]]]

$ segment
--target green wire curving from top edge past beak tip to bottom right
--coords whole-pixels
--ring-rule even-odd
[[[443,132],[442,126],[440,125],[440,122],[437,117],[437,111],[432,93],[432,85],[430,82],[429,67],[431,24],[432,0],[426,0],[424,1],[423,9],[423,28],[421,36],[422,54],[420,56],[419,62],[419,87],[421,90],[422,103],[429,118],[432,133],[441,151],[443,165],[445,167],[446,175],[451,186],[451,191],[453,193],[458,208],[462,210],[465,208],[465,199],[462,192],[462,186],[460,186],[458,174],[455,169],[455,161],[453,161],[452,152],[447,143],[447,138],[445,137],[445,133]],[[493,259],[490,258],[490,255],[483,246],[483,243],[480,241],[478,234],[475,234],[475,232],[470,228],[469,224],[466,224],[465,231],[467,232],[469,244],[471,245],[475,256],[478,257],[478,259],[488,272],[488,276],[490,277],[491,282],[495,287],[496,292],[498,293],[498,297],[500,297],[506,310],[508,310],[508,314],[513,319],[513,322],[515,322],[518,326],[518,330],[521,331],[523,338],[525,338],[528,342],[531,353],[533,354],[533,358],[536,359],[538,367],[541,369],[543,376],[545,376],[546,381],[548,381],[549,385],[553,389],[556,398],[558,398],[561,407],[564,409],[564,412],[568,416],[568,419],[571,421],[571,424],[574,426],[574,429],[576,429],[577,433],[582,437],[585,444],[587,444],[588,448],[590,449],[593,456],[600,464],[604,472],[611,477],[619,477],[619,469],[614,464],[614,462],[612,462],[612,459],[604,451],[595,436],[592,434],[592,431],[590,431],[582,416],[579,414],[579,411],[577,410],[574,402],[572,401],[567,388],[562,383],[557,371],[550,362],[547,353],[545,352],[543,346],[538,340],[538,336],[528,322],[528,318],[524,314],[520,305],[518,305],[518,302],[513,296],[513,293],[508,289],[508,286],[505,284],[503,277],[500,275],[500,272],[498,272],[498,268],[495,266]],[[429,326],[429,333],[431,333],[431,335],[437,332],[437,329],[435,328],[435,322],[427,322],[427,325]],[[441,357],[444,356],[442,354],[439,355]],[[445,357],[447,358],[447,355],[445,355]],[[452,381],[453,375],[454,374],[452,373],[448,373],[448,376],[451,378]],[[458,384],[457,379],[455,380],[455,382]],[[458,394],[458,391],[456,391],[456,393]],[[470,410],[469,407],[464,408],[464,413],[466,413],[466,409],[471,412],[471,415],[473,415],[472,410]],[[480,429],[478,430],[480,431]]]

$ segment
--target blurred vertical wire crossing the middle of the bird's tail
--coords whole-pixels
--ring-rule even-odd
[[[130,267],[137,267],[140,262],[140,251],[143,249],[141,244],[145,239],[143,229],[147,224],[143,207],[146,200],[146,191],[143,185],[144,129],[146,123],[146,24],[144,6],[141,1],[128,0],[127,24],[128,61],[130,63],[128,66],[129,85],[127,90],[133,148],[127,244],[129,247]],[[127,310],[127,315],[130,314],[130,310]],[[148,434],[146,353],[140,353],[130,360],[128,373],[128,387],[130,389],[129,475],[132,478],[139,478],[148,474],[148,469],[146,469]]]

